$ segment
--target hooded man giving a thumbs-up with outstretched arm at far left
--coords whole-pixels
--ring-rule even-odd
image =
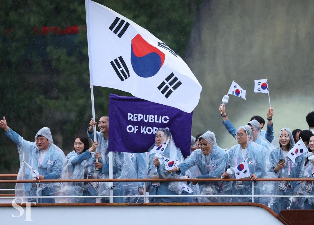
[[[17,179],[59,179],[65,155],[62,150],[53,144],[50,129],[41,128],[35,135],[34,142],[28,142],[8,127],[5,117],[0,121],[0,127],[4,129],[5,135],[18,147],[20,168]],[[33,173],[26,163],[38,174]],[[15,196],[56,196],[59,191],[57,183],[17,183]],[[25,201],[25,199],[24,199]],[[36,198],[26,201],[36,202]],[[39,203],[55,203],[54,198],[39,198]]]

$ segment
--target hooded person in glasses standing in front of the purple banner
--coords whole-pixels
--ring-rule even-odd
[[[165,159],[156,158],[156,152],[154,152],[155,146],[161,146],[169,140],[162,151],[166,158],[177,159],[180,163],[183,162],[183,156],[179,148],[176,147],[175,142],[172,139],[171,133],[164,128],[158,129],[155,134],[155,143],[149,148],[146,156],[146,177],[147,178],[180,178],[176,174],[169,174],[165,169]],[[182,182],[149,182],[149,195],[179,195],[182,193]],[[176,202],[179,198],[175,197],[150,197],[149,202]]]

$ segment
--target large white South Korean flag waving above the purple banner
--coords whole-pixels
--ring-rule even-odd
[[[192,112],[202,87],[181,57],[110,8],[85,4],[91,85]]]

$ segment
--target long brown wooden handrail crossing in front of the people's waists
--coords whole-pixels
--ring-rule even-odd
[[[71,183],[71,182],[150,182],[150,181],[251,181],[248,178],[244,179],[219,179],[219,178],[208,178],[208,179],[43,179],[43,180],[0,180],[0,183]],[[255,181],[314,181],[314,178],[258,178]]]

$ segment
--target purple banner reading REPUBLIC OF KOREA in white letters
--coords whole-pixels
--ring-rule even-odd
[[[166,128],[186,157],[190,155],[192,113],[136,97],[110,94],[109,150],[147,152],[155,142],[157,129]]]

